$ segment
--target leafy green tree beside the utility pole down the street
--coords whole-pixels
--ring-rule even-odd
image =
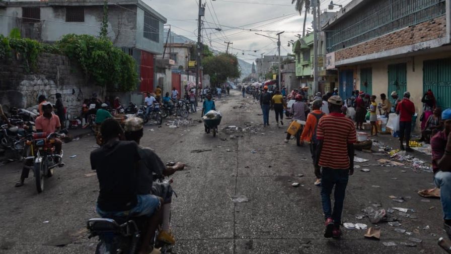
[[[203,72],[210,76],[210,83],[213,86],[221,84],[227,79],[239,78],[238,58],[233,54],[220,53],[218,55],[207,56],[203,59]]]

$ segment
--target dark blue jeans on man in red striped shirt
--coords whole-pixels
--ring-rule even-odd
[[[343,201],[346,192],[346,185],[348,184],[349,170],[322,168],[321,172],[321,202],[323,203],[324,218],[332,218],[335,225],[341,223],[341,213],[343,211]],[[334,208],[330,201],[332,188],[335,185],[334,191]]]

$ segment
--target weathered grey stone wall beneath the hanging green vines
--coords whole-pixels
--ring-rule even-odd
[[[55,94],[61,93],[67,111],[75,116],[80,114],[83,100],[93,92],[104,100],[105,88],[88,83],[67,57],[41,54],[37,66],[36,73],[27,73],[22,59],[0,61],[0,104],[6,108],[28,108],[37,104],[40,94],[55,103]]]

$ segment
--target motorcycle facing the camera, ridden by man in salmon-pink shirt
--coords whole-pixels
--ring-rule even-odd
[[[60,133],[34,133],[31,139],[26,142],[31,149],[31,156],[26,157],[26,160],[33,160],[33,172],[36,179],[36,190],[41,193],[44,190],[44,178],[51,177],[54,173],[54,168],[56,166],[62,167],[62,156],[61,154],[55,154],[55,148],[52,145],[55,140],[54,138],[64,138],[67,135],[67,130],[62,130]],[[47,135],[47,136],[46,136]]]

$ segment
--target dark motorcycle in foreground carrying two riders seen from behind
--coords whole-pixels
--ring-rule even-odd
[[[158,181],[172,183],[157,179]],[[146,221],[148,217],[114,217],[114,218],[93,218],[88,220],[87,228],[90,232],[88,238],[99,237],[96,254],[136,254],[142,241],[141,236],[147,229]],[[170,250],[170,245],[157,239],[159,228],[155,232],[155,247],[160,248],[161,253],[165,254]]]

